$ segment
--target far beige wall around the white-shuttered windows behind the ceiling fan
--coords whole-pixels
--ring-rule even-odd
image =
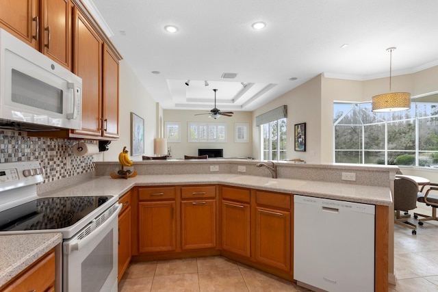
[[[216,120],[209,118],[209,115],[195,116],[207,111],[202,110],[178,110],[164,109],[165,122],[180,122],[181,123],[181,142],[170,143],[172,159],[184,158],[184,155],[198,155],[198,148],[223,148],[224,157],[252,157],[253,146],[250,141],[253,140],[253,135],[250,129],[253,127],[251,122],[251,113],[249,111],[235,111],[232,117],[222,116]],[[188,142],[188,122],[218,122],[227,123],[227,143],[192,143]],[[247,143],[234,142],[234,124],[248,123],[248,141]]]

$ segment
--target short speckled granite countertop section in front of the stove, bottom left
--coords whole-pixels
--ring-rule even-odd
[[[0,235],[0,287],[61,242],[61,233]]]

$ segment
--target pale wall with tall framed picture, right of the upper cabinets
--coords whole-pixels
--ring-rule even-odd
[[[129,157],[141,161],[142,155],[131,156],[131,111],[144,119],[144,152],[153,154],[153,138],[157,129],[157,105],[151,94],[124,60],[120,61],[119,79],[120,138],[110,144],[110,150],[95,155],[95,161],[118,161],[118,154],[127,146]]]

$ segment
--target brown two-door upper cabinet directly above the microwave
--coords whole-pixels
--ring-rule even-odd
[[[71,12],[70,0],[2,0],[0,26],[71,70]]]

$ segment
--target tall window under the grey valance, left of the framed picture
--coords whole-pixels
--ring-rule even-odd
[[[286,159],[286,118],[261,124],[261,160]]]

